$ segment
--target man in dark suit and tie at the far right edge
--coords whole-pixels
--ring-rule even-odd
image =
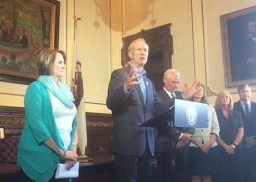
[[[240,101],[234,110],[242,114],[244,124],[244,177],[245,181],[256,181],[256,103],[251,100],[252,91],[248,84],[238,87]]]

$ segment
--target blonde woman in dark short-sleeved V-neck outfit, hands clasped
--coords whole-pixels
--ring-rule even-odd
[[[215,101],[216,114],[220,126],[219,146],[221,174],[218,181],[243,181],[242,146],[243,121],[242,115],[233,109],[233,99],[228,91],[218,94]]]

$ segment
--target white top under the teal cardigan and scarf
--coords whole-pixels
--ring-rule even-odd
[[[65,105],[55,97],[52,92],[49,92],[49,96],[52,102],[53,115],[56,126],[59,130],[60,138],[64,143],[64,149],[67,150],[71,141],[72,124],[76,116],[76,107],[67,108]]]

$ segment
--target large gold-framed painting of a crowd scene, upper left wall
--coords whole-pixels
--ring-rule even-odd
[[[0,1],[0,81],[37,79],[37,55],[58,48],[59,6],[55,0]]]

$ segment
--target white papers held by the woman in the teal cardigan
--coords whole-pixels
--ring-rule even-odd
[[[59,163],[55,173],[55,179],[77,178],[78,175],[79,175],[79,162],[76,162],[75,166],[71,168],[69,171],[66,169],[65,163]]]

